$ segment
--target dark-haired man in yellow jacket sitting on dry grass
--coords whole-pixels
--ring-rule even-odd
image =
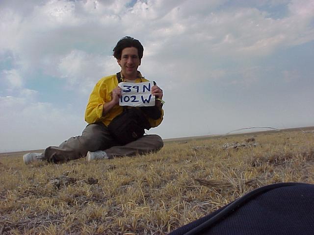
[[[155,95],[156,102],[153,107],[124,109],[119,106],[121,88],[118,79],[125,82],[147,82],[139,71],[144,48],[141,43],[132,38],[122,38],[114,47],[113,55],[117,59],[121,72],[100,79],[89,96],[85,111],[85,120],[88,125],[81,136],[71,137],[59,146],[50,146],[44,153],[27,153],[23,156],[25,164],[34,161],[47,161],[52,163],[66,162],[86,156],[87,161],[96,159],[111,159],[113,157],[132,156],[156,152],[163,146],[162,139],[157,135],[142,135],[137,133],[138,127],[127,124],[123,130],[116,131],[126,123],[125,120],[134,119],[135,125],[142,131],[158,126],[163,119],[162,90],[152,86],[151,93]],[[136,109],[136,110],[135,110]],[[133,112],[124,113],[127,110]],[[124,113],[124,119],[119,119]],[[136,113],[129,117],[129,113]],[[115,120],[115,126],[112,120]],[[144,123],[146,123],[144,125]],[[111,128],[110,128],[111,127]],[[118,132],[118,133],[116,133]],[[130,133],[131,132],[131,133]],[[144,132],[144,131],[143,131]],[[121,135],[121,133],[123,133]],[[128,136],[128,138],[127,138]],[[130,139],[130,138],[133,139]]]

